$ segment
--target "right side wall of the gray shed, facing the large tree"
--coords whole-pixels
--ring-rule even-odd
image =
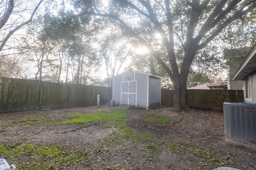
[[[149,76],[148,81],[148,107],[161,105],[161,80],[155,77]]]

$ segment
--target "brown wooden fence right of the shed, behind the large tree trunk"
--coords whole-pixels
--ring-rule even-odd
[[[161,104],[174,104],[174,90],[161,89]],[[188,107],[223,110],[224,102],[244,102],[242,90],[187,90]]]

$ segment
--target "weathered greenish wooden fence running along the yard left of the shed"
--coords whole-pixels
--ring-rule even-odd
[[[106,104],[112,88],[0,77],[0,112]]]

